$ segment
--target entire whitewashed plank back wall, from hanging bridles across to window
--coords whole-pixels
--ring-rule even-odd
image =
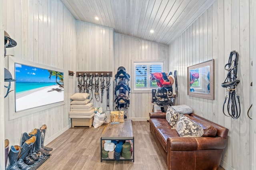
[[[115,107],[113,102],[114,75],[119,66],[124,66],[132,75],[132,61],[165,60],[168,63],[168,46],[166,45],[114,33],[113,29],[80,21],[77,21],[77,35],[78,71],[113,72],[110,88],[111,110],[114,110]],[[132,83],[132,80],[129,83]],[[76,91],[78,92],[78,88]],[[104,98],[106,98],[105,95],[106,92]],[[141,102],[142,98],[146,101]],[[152,111],[151,98],[151,93],[130,94],[131,104],[128,109],[128,118],[147,120],[148,113]],[[102,104],[94,100],[94,107],[99,106],[106,110],[106,100],[103,100]]]

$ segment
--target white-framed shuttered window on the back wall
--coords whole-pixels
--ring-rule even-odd
[[[156,82],[150,81],[154,72],[163,72],[163,62],[134,62],[133,90],[150,90],[158,88]]]

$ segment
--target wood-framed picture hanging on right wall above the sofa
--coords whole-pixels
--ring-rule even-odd
[[[188,66],[188,96],[214,100],[214,59]]]

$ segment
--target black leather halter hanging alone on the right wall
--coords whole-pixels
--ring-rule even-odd
[[[240,80],[236,79],[237,70],[238,70],[237,66],[238,66],[238,53],[236,51],[231,51],[228,59],[228,64],[225,65],[225,70],[228,71],[228,74],[224,83],[222,83],[221,86],[226,88],[226,96],[225,96],[222,111],[224,115],[230,116],[233,119],[237,119],[241,113],[239,96],[236,96],[236,86],[240,82]],[[237,101],[236,101],[236,98],[237,98]],[[228,99],[228,104],[227,104],[228,115],[224,111],[224,107],[227,99]]]

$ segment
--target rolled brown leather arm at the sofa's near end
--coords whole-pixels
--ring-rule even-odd
[[[224,149],[227,139],[222,137],[168,137],[168,151]]]

